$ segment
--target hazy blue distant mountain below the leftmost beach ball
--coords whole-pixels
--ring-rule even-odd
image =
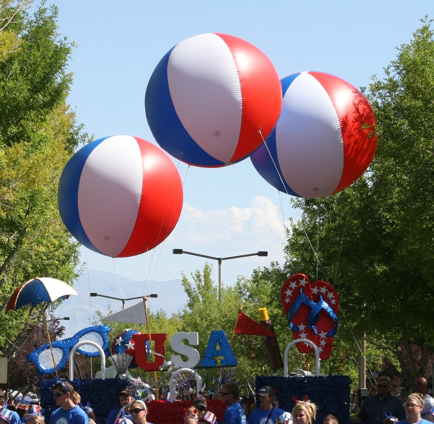
[[[74,283],[74,288],[79,293],[79,296],[70,296],[69,299],[63,301],[62,305],[55,311],[55,315],[58,317],[71,318],[69,321],[61,322],[61,324],[66,327],[65,337],[71,337],[82,328],[89,327],[91,315],[92,321],[94,321],[95,311],[97,309],[102,311],[105,315],[109,313],[108,305],[110,305],[112,311],[117,312],[122,309],[122,301],[99,296],[91,298],[89,296],[90,292],[128,299],[141,296],[144,287],[145,281],[133,281],[129,278],[122,277],[122,275],[116,276],[116,274],[112,272],[89,269],[88,277],[88,272],[85,271]],[[180,279],[170,281],[151,280],[149,290],[148,282],[146,282],[144,294],[148,295],[150,293],[157,293],[158,298],[149,299],[149,310],[156,312],[162,309],[168,316],[181,310],[187,302],[187,295],[182,288]],[[126,307],[128,308],[128,306],[135,305],[139,301],[138,299],[127,301]]]

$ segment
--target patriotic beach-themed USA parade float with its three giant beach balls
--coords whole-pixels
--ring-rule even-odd
[[[279,80],[267,56],[226,34],[202,34],[174,46],[151,76],[145,109],[155,140],[174,158],[192,166],[219,167],[251,155],[260,175],[288,195],[322,197],[345,189],[362,175],[376,149],[375,116],[358,89],[320,72]],[[76,152],[60,178],[58,199],[62,220],[80,243],[103,255],[126,257],[155,248],[174,230],[183,192],[178,170],[161,149],[138,137],[112,136]],[[8,310],[71,294],[76,293],[56,292],[36,303],[11,298]],[[275,388],[279,407],[286,411],[296,399],[307,397],[319,407],[318,422],[325,414],[349,422],[349,378],[321,374],[321,361],[332,354],[338,330],[338,294],[327,282],[310,282],[306,275],[295,274],[283,283],[281,298],[281,313],[294,339],[283,358],[279,335],[260,305],[260,322],[240,310],[234,326],[233,334],[263,337],[270,367],[276,371],[256,376],[256,389]],[[146,298],[105,320],[147,323]],[[57,374],[69,361],[69,379],[82,403],[92,405],[99,423],[118,406],[123,390],[148,402],[152,423],[163,424],[168,417],[182,423],[183,411],[204,396],[197,368],[237,365],[220,328],[211,332],[203,352],[194,346],[204,335],[174,334],[170,343],[178,354],[171,358],[165,354],[168,335],[152,333],[149,326],[145,334],[125,329],[111,345],[108,332],[108,325],[85,328],[71,338],[49,340],[28,356],[41,375]],[[288,370],[294,346],[301,353],[315,354],[311,375]],[[74,378],[75,353],[101,357],[99,378]],[[105,367],[106,358],[112,368]],[[155,373],[155,379],[149,384],[132,378],[128,367]],[[55,408],[56,381],[40,384],[48,423]],[[162,381],[168,381],[168,387],[159,393],[156,388]],[[208,391],[213,396],[207,403],[220,421],[225,407],[215,399],[217,391]],[[186,393],[190,400],[181,400]]]

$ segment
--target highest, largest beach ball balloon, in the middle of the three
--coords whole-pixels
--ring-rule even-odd
[[[247,41],[217,33],[174,46],[145,95],[146,118],[161,148],[204,167],[249,156],[276,125],[281,105],[270,59]]]

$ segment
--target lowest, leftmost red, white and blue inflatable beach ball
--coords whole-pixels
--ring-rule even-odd
[[[112,258],[154,248],[174,229],[182,184],[171,159],[132,136],[102,138],[82,147],[59,182],[60,216],[87,248]]]

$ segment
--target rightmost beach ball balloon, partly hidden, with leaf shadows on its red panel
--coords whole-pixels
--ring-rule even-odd
[[[276,128],[250,156],[281,192],[324,197],[350,186],[377,148],[375,116],[365,96],[340,78],[301,72],[283,78]]]

